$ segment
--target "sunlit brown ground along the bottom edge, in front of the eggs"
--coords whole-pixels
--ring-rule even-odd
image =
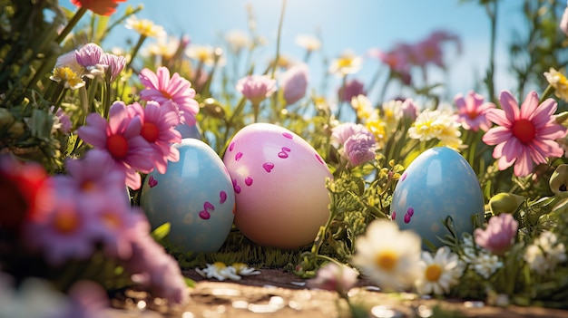
[[[112,318],[240,318],[240,317],[349,317],[345,301],[335,293],[309,290],[296,275],[275,269],[262,269],[260,275],[245,276],[240,281],[219,282],[204,279],[195,271],[184,275],[195,280],[189,304],[168,306],[162,300],[150,300],[143,292],[127,291],[124,299],[115,299],[109,311]],[[568,317],[568,311],[535,307],[487,306],[480,302],[441,302],[413,294],[380,293],[362,280],[349,293],[356,304],[369,312],[368,317],[439,317],[438,308],[450,312],[444,317]]]

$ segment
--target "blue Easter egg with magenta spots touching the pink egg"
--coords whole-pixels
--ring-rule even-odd
[[[170,243],[184,251],[216,252],[234,219],[235,197],[229,173],[206,143],[182,139],[174,144],[180,160],[168,162],[164,174],[154,170],[144,179],[143,207],[152,228],[170,222]]]

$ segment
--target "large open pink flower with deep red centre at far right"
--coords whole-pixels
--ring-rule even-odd
[[[531,173],[534,163],[545,163],[547,157],[563,156],[563,149],[554,140],[566,135],[566,128],[556,123],[556,101],[547,99],[539,105],[538,95],[526,95],[521,109],[510,92],[499,97],[502,110],[490,109],[488,120],[499,127],[488,130],[483,136],[486,144],[495,146],[493,158],[498,159],[500,170],[511,167],[514,174],[524,177]]]

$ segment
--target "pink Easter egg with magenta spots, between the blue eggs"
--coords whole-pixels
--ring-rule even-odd
[[[223,157],[235,192],[235,225],[261,246],[312,243],[328,220],[328,166],[306,140],[269,123],[246,126]]]

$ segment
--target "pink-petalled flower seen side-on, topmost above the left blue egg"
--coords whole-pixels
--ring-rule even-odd
[[[179,111],[181,123],[189,126],[195,124],[195,116],[200,111],[200,106],[195,97],[195,90],[191,88],[191,82],[182,78],[177,72],[170,78],[170,70],[159,67],[155,73],[149,69],[140,72],[140,82],[145,90],[140,92],[142,101],[172,101]]]

